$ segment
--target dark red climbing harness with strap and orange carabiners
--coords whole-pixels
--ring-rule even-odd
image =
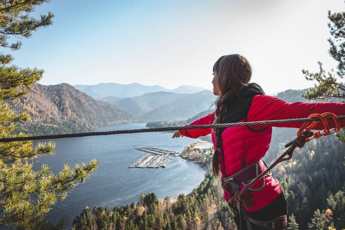
[[[268,221],[256,220],[247,215],[243,208],[249,209],[253,206],[252,201],[248,198],[250,197],[249,192],[262,190],[265,186],[265,175],[272,175],[271,170],[273,167],[283,161],[290,160],[296,147],[303,147],[306,142],[319,138],[320,136],[326,136],[333,132],[337,132],[340,128],[339,117],[333,113],[311,114],[308,118],[317,118],[317,120],[304,122],[301,128],[297,131],[297,137],[285,145],[285,147],[289,148],[271,166],[267,167],[265,162],[260,159],[237,173],[222,179],[223,189],[231,196],[228,204],[233,209],[237,209],[236,211],[239,214],[240,223],[242,213],[244,217],[243,219],[246,221],[247,229],[252,229],[250,223],[267,229],[285,229],[287,224],[286,215]],[[335,127],[329,129],[327,120],[333,120]],[[322,122],[324,129],[315,133],[311,132],[310,130],[319,122]],[[218,151],[222,151],[220,144],[217,144],[217,148]],[[258,180],[263,180],[262,186],[252,189],[251,186]],[[244,187],[240,189],[240,185],[243,185]],[[247,196],[246,194],[249,195]]]

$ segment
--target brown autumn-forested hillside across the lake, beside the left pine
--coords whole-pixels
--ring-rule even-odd
[[[97,101],[68,84],[36,84],[28,94],[8,103],[16,111],[30,114],[31,121],[19,126],[30,134],[82,132],[135,121],[116,105]]]

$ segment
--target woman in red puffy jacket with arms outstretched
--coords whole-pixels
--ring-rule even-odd
[[[216,110],[190,125],[244,121],[305,118],[313,113],[331,112],[345,115],[343,103],[288,103],[266,96],[255,83],[249,83],[251,67],[238,54],[220,57],[213,66],[213,93],[219,96]],[[321,123],[321,122],[320,122]],[[240,229],[285,229],[287,202],[277,179],[271,174],[258,180],[242,197],[240,205],[233,199],[235,191],[265,170],[261,160],[269,148],[272,126],[299,128],[302,123],[228,127],[225,129],[179,130],[172,136],[197,138],[212,133],[215,176],[221,173],[224,198],[237,211],[235,222]],[[331,124],[333,125],[333,124]],[[341,127],[345,121],[340,121]],[[323,129],[322,124],[314,129]]]

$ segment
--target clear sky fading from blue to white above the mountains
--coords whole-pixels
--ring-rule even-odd
[[[40,84],[192,85],[212,89],[212,66],[238,53],[251,82],[267,94],[305,89],[302,69],[336,67],[328,54],[328,10],[342,0],[114,1],[51,0],[53,25],[21,39],[12,64],[44,69]]]

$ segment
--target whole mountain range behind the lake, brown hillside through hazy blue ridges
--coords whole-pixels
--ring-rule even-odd
[[[304,93],[306,90],[287,90],[276,97],[288,102],[312,102],[302,97]],[[31,116],[31,121],[19,125],[19,131],[55,134],[133,122],[149,122],[152,127],[167,124],[162,121],[188,124],[214,111],[215,100],[211,91],[160,91],[128,98],[108,96],[100,101],[68,84],[35,84],[28,94],[8,103],[14,110],[27,111]]]

